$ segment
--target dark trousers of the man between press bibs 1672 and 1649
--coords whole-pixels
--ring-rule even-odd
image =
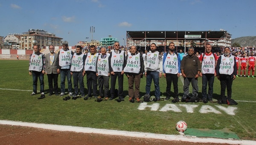
[[[97,95],[97,87],[98,87],[96,72],[86,71],[85,73],[87,78],[88,95],[95,96]]]

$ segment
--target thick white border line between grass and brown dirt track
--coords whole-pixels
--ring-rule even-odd
[[[8,120],[0,120],[2,125],[17,125],[26,126],[32,128],[42,128],[54,131],[74,131],[78,133],[97,133],[97,134],[107,134],[107,135],[117,135],[117,136],[130,136],[130,137],[140,137],[140,138],[150,138],[150,139],[164,139],[169,141],[183,141],[183,142],[212,142],[212,143],[227,143],[227,144],[239,144],[239,145],[256,145],[256,141],[252,140],[233,140],[233,139],[216,139],[216,138],[199,138],[183,135],[167,135],[167,134],[155,134],[155,133],[142,133],[142,132],[131,132],[131,131],[115,131],[107,129],[97,129],[97,128],[82,128],[74,126],[64,126],[64,125],[48,125],[48,124],[38,124],[38,123],[27,123],[27,122],[15,122]]]

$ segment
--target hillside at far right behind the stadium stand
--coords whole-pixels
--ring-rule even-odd
[[[241,46],[256,46],[256,36],[246,36],[239,37],[231,40],[231,45],[233,43],[239,43]]]

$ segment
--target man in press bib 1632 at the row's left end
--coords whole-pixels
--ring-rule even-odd
[[[32,96],[37,93],[37,82],[39,78],[41,97],[38,99],[44,99],[45,55],[40,52],[38,45],[34,45],[33,50],[34,52],[29,58],[29,75],[33,77],[33,92],[30,95]]]

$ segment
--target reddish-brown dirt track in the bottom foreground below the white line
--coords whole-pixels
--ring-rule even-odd
[[[145,139],[127,136],[52,131],[0,125],[0,145],[228,145]]]

